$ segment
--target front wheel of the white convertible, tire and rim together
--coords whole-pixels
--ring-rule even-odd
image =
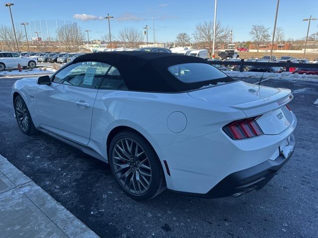
[[[23,98],[20,95],[16,96],[14,100],[14,114],[20,130],[24,134],[32,135],[35,133],[36,128],[31,119],[29,109],[27,108]]]

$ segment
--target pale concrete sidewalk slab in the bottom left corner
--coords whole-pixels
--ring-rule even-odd
[[[0,155],[1,237],[99,238]]]

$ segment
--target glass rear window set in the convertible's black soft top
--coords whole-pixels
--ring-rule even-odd
[[[169,72],[184,83],[209,81],[209,84],[229,82],[228,75],[208,63],[182,63],[168,67]],[[226,79],[226,80],[224,80]],[[215,80],[212,81],[211,80]]]

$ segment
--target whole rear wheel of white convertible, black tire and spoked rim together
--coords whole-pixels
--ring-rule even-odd
[[[119,132],[109,148],[109,164],[124,191],[137,200],[158,195],[165,188],[159,159],[145,138],[133,131]]]

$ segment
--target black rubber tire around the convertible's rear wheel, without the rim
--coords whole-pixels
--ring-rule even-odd
[[[145,192],[143,192],[141,194],[136,194],[136,193],[128,190],[125,187],[125,185],[123,184],[123,181],[121,181],[118,178],[119,175],[117,176],[117,174],[115,173],[116,169],[115,169],[115,165],[113,163],[114,160],[116,160],[115,158],[113,158],[113,155],[115,153],[114,147],[117,145],[116,143],[120,142],[122,139],[128,139],[128,140],[132,140],[134,142],[137,142],[140,146],[140,149],[145,152],[145,155],[148,158],[148,162],[149,162],[149,165],[151,167],[151,179],[149,181],[148,188],[145,190]],[[137,159],[137,160],[139,160],[139,159]],[[142,137],[141,135],[139,135],[138,133],[136,133],[134,131],[124,130],[124,131],[121,131],[114,136],[114,138],[112,139],[110,146],[109,146],[108,162],[109,162],[112,174],[116,178],[116,180],[119,183],[119,185],[121,186],[121,188],[124,190],[124,192],[128,196],[130,196],[131,198],[133,198],[137,201],[142,201],[142,200],[154,198],[155,196],[159,195],[162,191],[164,191],[164,189],[166,188],[164,173],[163,173],[162,166],[161,166],[161,163],[159,161],[159,158],[158,158],[156,152],[154,151],[151,144],[144,137]],[[138,169],[136,168],[136,171],[135,171],[136,173],[137,173],[137,170]],[[141,169],[140,169],[140,171],[141,171]],[[134,176],[134,174],[128,180],[131,180],[131,178]],[[136,183],[138,183],[138,182],[136,181]],[[134,187],[135,187],[135,185],[134,185]]]

